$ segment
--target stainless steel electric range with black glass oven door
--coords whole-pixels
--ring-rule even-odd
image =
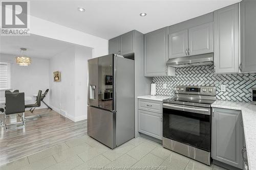
[[[216,87],[176,86],[163,100],[163,147],[210,165],[211,107]]]

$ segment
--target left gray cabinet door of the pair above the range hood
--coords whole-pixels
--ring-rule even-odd
[[[169,34],[169,58],[185,57],[188,48],[188,30],[182,30],[176,33]]]

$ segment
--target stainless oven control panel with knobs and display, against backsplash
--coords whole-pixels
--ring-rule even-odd
[[[214,86],[176,86],[176,94],[216,95]]]

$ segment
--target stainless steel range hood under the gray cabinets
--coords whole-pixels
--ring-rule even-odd
[[[214,64],[214,53],[169,59],[166,63],[167,66],[171,67],[190,67],[212,64]]]

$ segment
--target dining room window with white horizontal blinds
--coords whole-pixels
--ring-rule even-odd
[[[0,90],[12,89],[12,63],[0,62]]]

